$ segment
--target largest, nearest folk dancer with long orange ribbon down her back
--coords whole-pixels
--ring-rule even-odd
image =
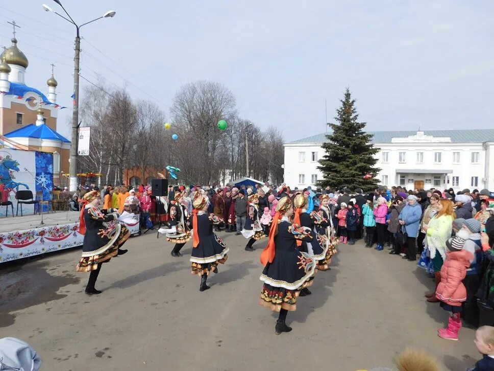
[[[264,266],[260,280],[264,282],[260,304],[280,312],[275,332],[290,332],[285,320],[288,311],[297,309],[297,297],[314,274],[315,262],[307,252],[297,247],[299,241],[311,241],[310,228],[290,222],[293,206],[283,197],[276,207],[277,213],[269,230],[269,242],[261,253]]]

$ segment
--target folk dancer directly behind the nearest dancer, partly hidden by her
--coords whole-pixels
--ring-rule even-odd
[[[320,223],[323,219],[317,213],[307,214],[308,200],[303,194],[298,194],[293,200],[293,206],[295,206],[295,213],[293,215],[293,223],[299,224],[303,227],[308,227],[310,230],[314,230],[316,223]],[[317,262],[317,268],[319,270],[328,270],[328,263],[326,261],[326,253],[328,252],[328,241],[326,234],[320,235],[316,233],[316,238],[310,242],[297,241],[301,251],[308,252],[313,255],[314,260]],[[308,290],[307,290],[308,291]],[[310,293],[306,292],[307,294]]]

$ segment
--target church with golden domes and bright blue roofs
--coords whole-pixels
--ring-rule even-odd
[[[10,23],[10,22],[9,22]],[[62,184],[69,171],[70,141],[57,132],[57,80],[46,81],[46,95],[26,84],[28,58],[15,37],[0,55],[0,146],[4,149],[53,154],[53,183]],[[53,66],[53,65],[52,65]],[[20,170],[22,171],[22,170]]]

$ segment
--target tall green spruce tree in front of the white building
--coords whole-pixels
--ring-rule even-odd
[[[324,179],[318,183],[333,189],[349,187],[373,191],[379,182],[374,176],[381,170],[374,167],[377,163],[374,155],[379,149],[374,148],[371,142],[373,134],[363,131],[365,123],[357,121],[355,99],[352,99],[349,88],[340,102],[341,107],[336,109],[334,118],[337,123],[328,124],[332,133],[326,135],[328,141],[323,144],[326,154],[319,160],[317,168],[323,172]],[[364,179],[366,174],[372,174],[372,177]]]

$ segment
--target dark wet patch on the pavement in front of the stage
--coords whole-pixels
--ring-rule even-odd
[[[54,269],[47,262],[0,269],[0,328],[15,322],[12,312],[64,298],[67,295],[57,294],[57,291],[81,281],[76,272],[55,271],[62,269]]]

